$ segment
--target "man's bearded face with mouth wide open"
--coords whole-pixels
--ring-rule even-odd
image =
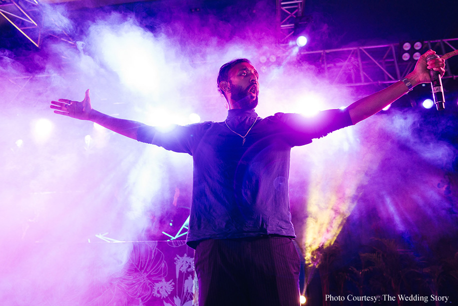
[[[228,72],[231,108],[253,109],[259,94],[258,73],[251,64],[239,63]]]

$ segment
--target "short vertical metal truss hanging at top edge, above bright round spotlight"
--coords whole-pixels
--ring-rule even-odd
[[[296,19],[302,16],[305,0],[276,0],[276,19],[279,25],[278,43],[287,44],[294,34]]]

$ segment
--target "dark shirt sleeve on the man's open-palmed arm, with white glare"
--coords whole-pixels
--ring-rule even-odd
[[[172,125],[164,131],[161,128],[143,125],[138,128],[137,140],[144,143],[153,144],[178,153],[192,155],[194,143],[199,137],[202,124]]]

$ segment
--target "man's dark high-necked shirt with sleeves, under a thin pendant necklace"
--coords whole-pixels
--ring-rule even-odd
[[[351,125],[348,111],[327,110],[313,118],[276,113],[262,119],[254,110],[235,109],[225,122],[174,126],[166,133],[150,126],[138,129],[138,141],[193,157],[187,244],[195,248],[203,239],[268,234],[295,237],[288,198],[290,149]],[[241,136],[251,126],[242,145]]]

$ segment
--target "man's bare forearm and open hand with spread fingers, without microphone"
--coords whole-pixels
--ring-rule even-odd
[[[58,101],[51,101],[50,108],[54,109],[54,113],[56,114],[80,120],[89,120],[135,140],[137,139],[138,127],[142,125],[142,123],[137,121],[111,117],[92,109],[89,90],[86,90],[84,100],[81,102],[59,99]]]

